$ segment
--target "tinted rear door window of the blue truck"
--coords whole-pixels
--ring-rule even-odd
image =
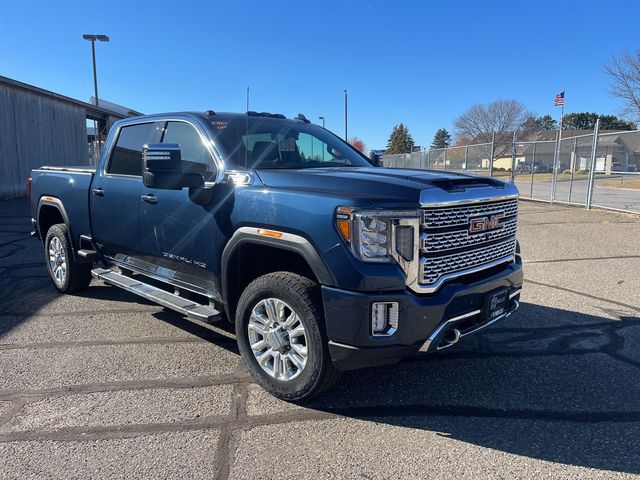
[[[154,123],[122,127],[107,165],[107,173],[142,176],[142,146],[153,141]]]

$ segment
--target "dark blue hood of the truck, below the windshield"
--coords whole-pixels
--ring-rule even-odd
[[[438,197],[441,197],[447,196],[447,192],[459,193],[475,186],[485,189],[504,186],[500,181],[485,177],[379,167],[259,170],[257,174],[266,186],[278,189],[403,203],[418,203],[421,192],[427,189],[438,189]]]

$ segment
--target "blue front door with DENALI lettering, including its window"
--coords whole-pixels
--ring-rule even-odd
[[[214,181],[217,167],[205,138],[193,124],[169,121],[161,131],[160,143],[180,145],[183,172],[197,172],[205,182]],[[207,188],[213,189],[211,200],[202,205],[189,198],[188,188],[163,190],[142,186],[140,236],[144,259],[155,265],[157,275],[219,299],[213,270],[223,238],[217,207],[223,201],[224,185]]]

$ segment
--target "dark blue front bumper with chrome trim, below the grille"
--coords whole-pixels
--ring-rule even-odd
[[[333,363],[340,370],[352,370],[446,348],[460,337],[511,315],[518,308],[522,280],[522,264],[517,255],[511,264],[447,283],[428,295],[416,295],[409,290],[354,292],[322,287]],[[484,320],[482,310],[487,294],[502,289],[509,293],[508,311],[490,321]],[[399,322],[393,335],[371,334],[373,302],[398,302]]]

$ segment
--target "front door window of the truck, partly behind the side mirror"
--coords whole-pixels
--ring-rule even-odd
[[[162,143],[177,143],[182,155],[182,171],[200,173],[205,181],[216,178],[216,167],[209,150],[193,126],[184,122],[167,122]]]

